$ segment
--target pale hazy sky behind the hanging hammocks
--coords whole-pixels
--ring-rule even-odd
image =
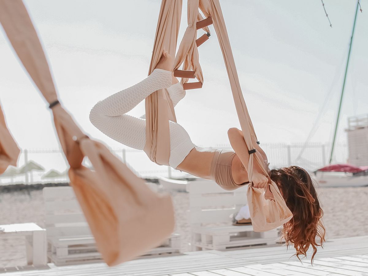
[[[220,1],[241,88],[262,142],[304,142],[330,94],[311,141],[331,140],[356,1]],[[64,107],[81,128],[113,148],[121,144],[89,122],[103,98],[146,77],[159,0],[25,0],[42,40]],[[347,117],[368,110],[368,1],[361,0],[343,101],[338,141]],[[186,23],[183,1],[180,37]],[[239,127],[217,37],[199,48],[202,89],[177,105],[178,123],[201,146],[228,144]],[[203,31],[199,31],[202,35]],[[21,148],[58,148],[51,113],[25,74],[1,29],[0,93],[8,126]],[[331,90],[331,93],[329,91]],[[144,113],[143,102],[130,112]]]

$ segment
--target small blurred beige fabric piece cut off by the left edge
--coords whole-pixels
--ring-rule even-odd
[[[9,165],[17,166],[19,153],[20,149],[6,126],[0,105],[0,174],[5,172]]]

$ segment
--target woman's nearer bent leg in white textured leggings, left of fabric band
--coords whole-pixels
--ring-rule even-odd
[[[146,143],[146,122],[125,113],[156,90],[170,87],[171,75],[171,71],[155,69],[136,85],[99,101],[89,114],[90,121],[112,139],[142,150]]]

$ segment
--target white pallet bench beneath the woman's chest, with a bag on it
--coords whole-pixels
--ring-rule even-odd
[[[276,244],[277,229],[258,233],[251,225],[232,225],[230,215],[247,204],[247,186],[226,191],[213,181],[198,179],[188,182],[187,191],[192,251]]]

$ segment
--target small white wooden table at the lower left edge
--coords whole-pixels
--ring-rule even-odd
[[[46,229],[36,223],[15,223],[0,225],[0,237],[22,235],[26,241],[27,264],[47,265]]]

